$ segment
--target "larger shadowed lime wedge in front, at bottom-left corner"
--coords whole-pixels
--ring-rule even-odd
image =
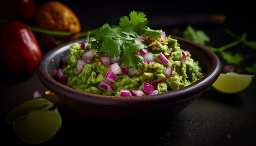
[[[41,144],[48,141],[62,125],[57,108],[54,110],[31,111],[25,119],[15,120],[13,129],[21,141]]]

